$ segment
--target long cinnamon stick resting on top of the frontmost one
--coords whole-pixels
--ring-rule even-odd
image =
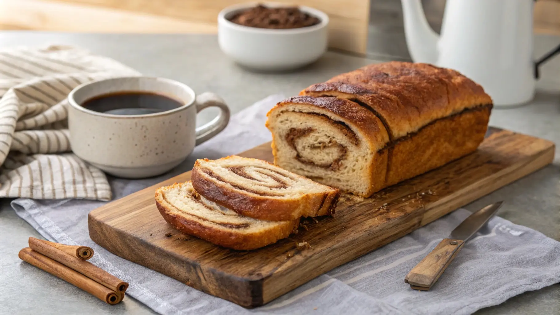
[[[34,237],[29,238],[29,247],[39,252],[55,261],[60,262],[67,267],[72,268],[85,275],[87,278],[97,281],[98,283],[106,286],[107,288],[115,292],[125,292],[128,288],[128,283],[116,278],[114,275],[109,274],[109,272],[101,269],[100,267],[91,264],[88,261],[81,260],[72,255],[50,246],[46,243],[41,242],[39,239]]]

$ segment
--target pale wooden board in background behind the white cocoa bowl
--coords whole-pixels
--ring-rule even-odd
[[[0,0],[0,24],[46,31],[208,33],[240,0]],[[331,48],[366,53],[370,0],[275,0],[329,15]]]

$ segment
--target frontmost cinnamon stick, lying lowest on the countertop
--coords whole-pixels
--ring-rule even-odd
[[[36,251],[32,251],[29,247],[22,249],[18,256],[21,260],[77,286],[108,304],[114,305],[119,303],[124,297],[124,293],[121,295],[120,293],[115,292],[114,290],[111,290],[106,286],[91,280],[90,278],[87,278],[85,275],[80,274],[80,272],[72,270]]]

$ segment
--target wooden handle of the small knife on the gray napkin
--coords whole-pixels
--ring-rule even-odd
[[[404,282],[410,284],[412,289],[430,290],[457,253],[461,251],[464,243],[460,239],[444,238],[428,256],[410,270],[404,278]]]

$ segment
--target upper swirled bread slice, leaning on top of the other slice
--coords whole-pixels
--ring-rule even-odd
[[[260,220],[332,215],[340,192],[267,161],[229,156],[194,163],[194,189],[206,199]]]

